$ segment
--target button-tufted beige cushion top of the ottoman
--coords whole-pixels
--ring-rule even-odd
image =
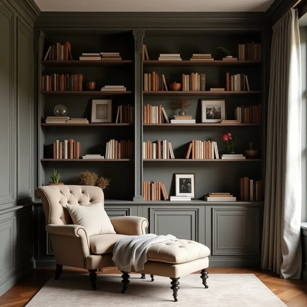
[[[147,260],[184,263],[209,255],[209,248],[203,244],[190,240],[174,239],[151,245],[147,251]]]

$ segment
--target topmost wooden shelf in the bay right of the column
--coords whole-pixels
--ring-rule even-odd
[[[223,60],[204,60],[204,61],[159,61],[159,60],[145,60],[143,66],[251,66],[260,65],[262,61],[223,61]]]

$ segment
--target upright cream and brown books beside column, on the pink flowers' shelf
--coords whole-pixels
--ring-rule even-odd
[[[172,144],[166,140],[143,142],[143,159],[175,159]]]

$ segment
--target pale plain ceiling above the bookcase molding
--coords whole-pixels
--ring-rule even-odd
[[[34,0],[57,12],[264,12],[274,0]]]

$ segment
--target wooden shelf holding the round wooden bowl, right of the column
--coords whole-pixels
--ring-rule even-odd
[[[262,91],[143,91],[145,96],[228,96],[262,94]]]

